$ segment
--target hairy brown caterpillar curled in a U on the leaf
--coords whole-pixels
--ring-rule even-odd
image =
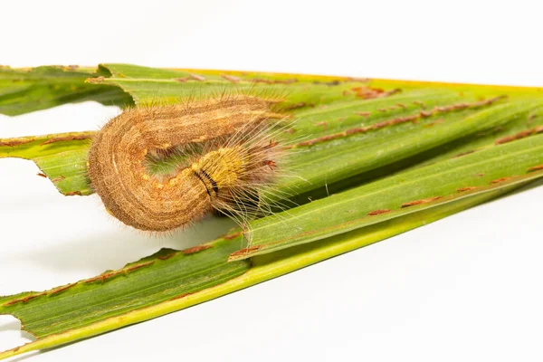
[[[110,214],[144,231],[170,231],[218,210],[248,210],[275,176],[280,148],[267,119],[277,100],[231,96],[125,110],[92,139],[89,176]],[[149,159],[186,162],[160,175]]]

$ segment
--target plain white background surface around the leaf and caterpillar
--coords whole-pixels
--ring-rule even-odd
[[[0,63],[290,71],[543,86],[540,1],[4,1]],[[0,138],[98,129],[115,108],[0,116]],[[211,239],[149,239],[96,196],[0,159],[0,295]],[[137,326],[14,360],[543,360],[543,187]],[[246,317],[243,317],[246,316]],[[27,339],[0,316],[0,349]]]

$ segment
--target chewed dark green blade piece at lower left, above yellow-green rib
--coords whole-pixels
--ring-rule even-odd
[[[249,269],[249,262],[227,263],[241,243],[219,240],[183,252],[163,249],[117,271],[41,293],[0,299],[0,313],[24,321],[43,338],[97,320],[119,316],[220,284]],[[205,251],[205,252],[203,252]]]

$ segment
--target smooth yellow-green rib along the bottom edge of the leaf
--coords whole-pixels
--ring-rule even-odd
[[[24,346],[0,352],[0,359],[17,356],[36,349],[59,347],[82,338],[96,336],[143,320],[154,319],[176,310],[183,310],[206,300],[219,298],[233,291],[242,290],[243,288],[250,287],[262,281],[271,280],[341,253],[350,252],[371,243],[384,240],[395,234],[405,233],[424,224],[432,223],[449,214],[455,214],[473,205],[479,205],[510,192],[515,187],[517,186],[494,190],[489,194],[474,195],[473,197],[448,205],[441,205],[438,209],[431,212],[422,210],[418,213],[408,214],[401,218],[387,221],[385,227],[371,225],[367,228],[357,229],[347,235],[338,235],[325,239],[319,243],[307,243],[291,249],[282,250],[281,252],[256,256],[252,258],[251,269],[232,280],[225,281],[222,284],[203,291],[197,291],[194,294],[187,295],[185,298],[168,300],[146,309],[132,310],[126,314],[103,319],[83,328],[70,329],[44,338],[38,338]],[[5,298],[0,299],[0,301],[5,300]],[[2,313],[5,313],[5,310],[0,310],[0,314]]]

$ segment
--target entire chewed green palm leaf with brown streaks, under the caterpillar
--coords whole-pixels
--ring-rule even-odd
[[[29,76],[29,87],[35,83],[44,91],[62,81],[62,72],[71,72],[53,70],[48,68],[49,78]],[[40,73],[26,71],[34,72]],[[0,359],[217,298],[457,213],[543,176],[539,89],[126,64],[80,72],[66,75],[66,84],[81,85],[88,78],[85,87],[125,94],[119,93],[122,89],[138,105],[239,91],[283,99],[278,110],[294,122],[291,133],[281,136],[290,145],[291,176],[267,197],[282,202],[289,194],[299,204],[321,199],[253,221],[250,246],[234,230],[185,252],[164,250],[87,281],[0,297],[0,314],[13,314],[37,337],[0,353]],[[15,83],[0,82],[7,84],[0,91],[0,107],[9,106],[2,103],[3,94],[26,89]],[[21,93],[18,111],[37,109],[42,96],[49,97]],[[107,97],[113,101],[116,96]],[[82,99],[53,98],[49,106]],[[32,159],[62,194],[89,195],[86,158],[92,135],[0,139],[0,157]]]

